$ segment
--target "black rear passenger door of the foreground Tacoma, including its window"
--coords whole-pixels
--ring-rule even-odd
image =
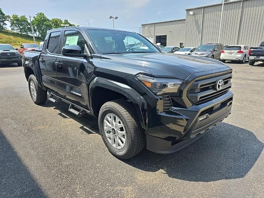
[[[60,38],[61,30],[49,32],[45,38],[41,55],[39,56],[42,82],[54,92],[59,92],[55,62],[59,52]]]

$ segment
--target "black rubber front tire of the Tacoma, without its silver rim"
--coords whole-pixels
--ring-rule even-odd
[[[112,146],[106,138],[104,132],[104,118],[108,113],[115,114],[124,125],[126,142],[121,149]],[[136,110],[134,106],[126,100],[119,99],[104,103],[99,112],[98,125],[104,144],[109,152],[120,159],[134,157],[142,151],[146,144],[146,135],[140,126]]]

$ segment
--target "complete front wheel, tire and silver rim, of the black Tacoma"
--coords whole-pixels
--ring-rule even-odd
[[[98,116],[100,134],[110,153],[129,159],[144,148],[146,137],[134,106],[126,100],[106,102]]]

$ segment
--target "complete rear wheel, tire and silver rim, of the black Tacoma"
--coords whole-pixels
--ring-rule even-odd
[[[29,92],[35,104],[42,104],[47,100],[47,91],[39,86],[37,78],[31,74],[29,76]]]

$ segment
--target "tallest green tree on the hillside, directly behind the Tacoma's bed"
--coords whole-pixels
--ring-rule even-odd
[[[53,29],[50,19],[43,12],[39,12],[33,17],[32,25],[42,39],[45,39],[48,30]]]

